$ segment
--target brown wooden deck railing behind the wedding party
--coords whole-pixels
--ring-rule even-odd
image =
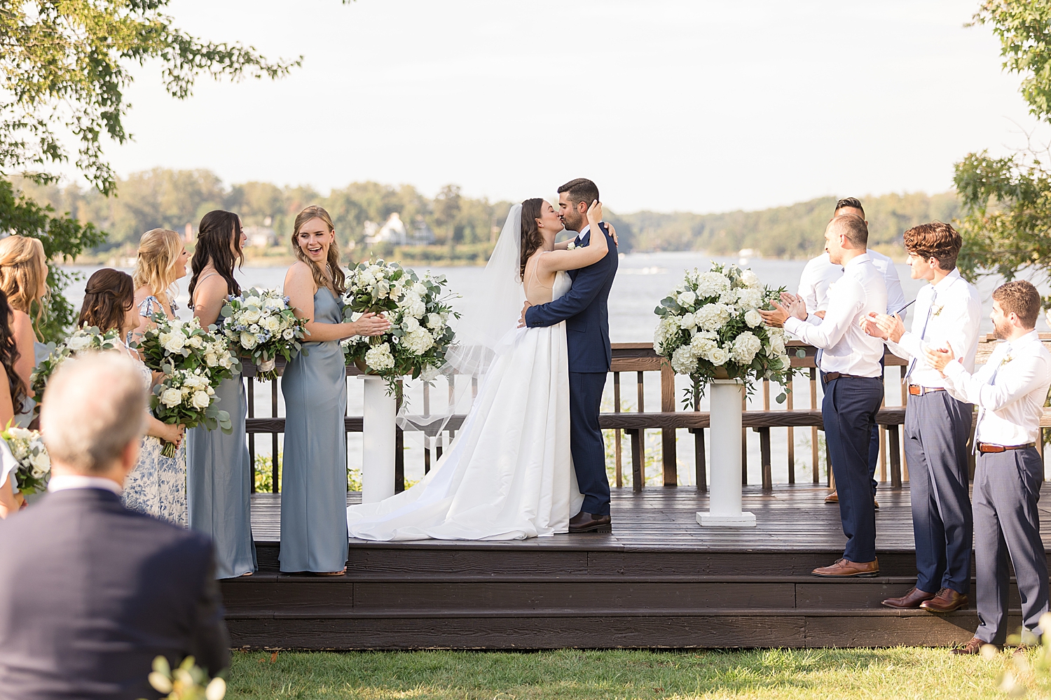
[[[1045,344],[1051,344],[1051,334],[1040,334]],[[981,364],[988,357],[992,348],[994,339],[987,336],[981,339],[978,359]],[[787,343],[788,356],[794,367],[802,369],[802,377],[797,377],[792,384],[794,390],[787,393],[784,407],[776,407],[770,404],[770,382],[763,380],[758,383],[756,391],[762,398],[761,410],[748,410],[745,401],[745,410],[742,413],[742,482],[747,484],[748,480],[748,431],[751,430],[759,436],[760,473],[762,487],[771,489],[772,460],[771,460],[771,428],[787,428],[786,430],[786,457],[787,457],[787,483],[796,483],[796,429],[809,428],[810,443],[810,481],[813,484],[825,483],[834,485],[829,468],[827,450],[825,453],[825,479],[822,479],[820,469],[819,453],[819,431],[824,429],[819,404],[818,370],[815,365],[816,348],[800,342],[791,341]],[[803,356],[799,357],[799,351],[803,351]],[[900,393],[900,406],[884,406],[877,416],[877,423],[880,426],[880,469],[878,472],[881,482],[889,481],[892,488],[901,488],[902,484],[908,481],[908,464],[904,455],[904,445],[901,437],[901,426],[905,422],[905,404],[908,401],[908,393],[904,384],[906,362],[892,355],[889,351],[885,354],[884,362],[888,368],[897,367],[885,373],[886,379],[885,396],[891,393]],[[279,363],[279,374],[283,370],[282,363]],[[355,367],[347,367],[347,376],[357,376],[362,373]],[[676,410],[679,403],[676,388],[676,378],[671,364],[664,358],[658,356],[652,343],[614,343],[613,364],[611,367],[613,375],[613,410],[602,412],[599,416],[599,425],[603,431],[612,432],[613,455],[614,455],[614,485],[620,488],[624,485],[623,464],[624,464],[624,438],[628,443],[631,452],[631,482],[635,491],[641,491],[645,484],[645,431],[660,430],[661,434],[661,468],[662,482],[664,486],[676,486],[679,484],[678,474],[678,431],[686,430],[694,437],[694,463],[695,463],[695,484],[701,491],[707,489],[707,463],[705,458],[705,429],[709,427],[710,419],[707,411],[697,410],[699,405],[695,397],[693,410]],[[635,409],[625,410],[625,400],[630,402],[624,394],[624,383],[631,384],[631,380],[622,382],[622,375],[631,377],[634,375],[635,390],[628,389],[628,396],[635,398]],[[660,410],[646,410],[645,380],[647,377],[657,375],[655,379],[660,381]],[[897,377],[894,377],[897,375]],[[274,491],[280,484],[280,459],[279,459],[279,438],[284,432],[285,419],[279,416],[277,391],[279,381],[260,382],[255,379],[255,367],[251,362],[244,363],[244,378],[248,391],[248,420],[246,427],[248,432],[248,448],[252,464],[255,464],[256,445],[260,437],[270,436],[270,454],[272,468],[272,484]],[[809,398],[809,408],[795,408],[796,397],[800,389],[800,383],[806,382],[807,395]],[[270,416],[255,416],[255,395],[263,388],[263,385],[270,393]],[[476,386],[472,387],[476,390]],[[424,405],[429,401],[429,389],[425,387]],[[754,399],[758,401],[758,399]],[[462,424],[462,416],[455,416],[442,429],[442,437],[452,440],[457,429]],[[347,416],[344,419],[347,432],[360,432],[363,430],[363,420],[360,416]],[[1042,428],[1051,427],[1051,410],[1045,410]],[[432,436],[434,437],[434,436]],[[395,453],[395,490],[400,491],[405,486],[405,459],[404,459],[404,434],[401,429],[397,429]],[[1043,459],[1043,444],[1039,445]],[[424,470],[430,471],[431,465],[441,457],[441,444],[433,448],[424,450]],[[349,458],[348,458],[349,459]],[[973,458],[972,473],[973,473]],[[888,479],[889,478],[889,479]],[[254,480],[253,480],[254,485]]]

